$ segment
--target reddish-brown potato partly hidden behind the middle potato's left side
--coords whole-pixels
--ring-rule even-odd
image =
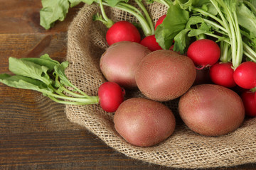
[[[135,88],[135,70],[149,52],[151,51],[147,47],[137,42],[116,42],[100,58],[102,74],[108,81],[114,81],[119,86]]]

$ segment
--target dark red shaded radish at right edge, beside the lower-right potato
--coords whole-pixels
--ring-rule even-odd
[[[252,117],[256,116],[256,101],[255,101],[255,92],[245,91],[242,93],[241,98],[245,106],[245,115]]]

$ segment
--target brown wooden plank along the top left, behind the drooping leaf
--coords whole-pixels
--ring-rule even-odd
[[[40,0],[1,1],[0,6],[0,34],[1,33],[59,33],[68,30],[69,23],[84,4],[70,8],[65,22],[57,21],[54,28],[45,30],[40,26]]]

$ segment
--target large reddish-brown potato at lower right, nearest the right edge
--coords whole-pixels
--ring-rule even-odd
[[[181,96],[178,112],[188,128],[206,136],[233,132],[245,118],[240,96],[235,91],[215,84],[191,87]]]

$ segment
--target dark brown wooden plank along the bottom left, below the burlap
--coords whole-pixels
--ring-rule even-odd
[[[3,169],[136,169],[149,164],[125,157],[84,130],[0,136]],[[100,167],[100,168],[99,168]],[[110,168],[111,167],[111,168]],[[0,168],[0,169],[1,169]]]

